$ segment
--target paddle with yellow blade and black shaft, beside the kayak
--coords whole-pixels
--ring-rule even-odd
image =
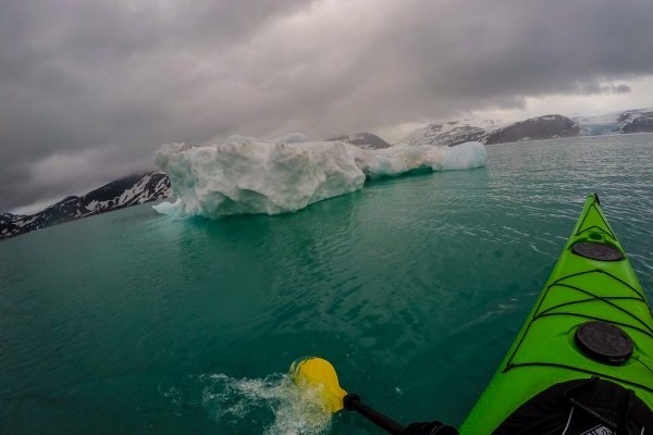
[[[315,357],[298,360],[291,365],[289,374],[295,384],[308,385],[320,391],[324,406],[332,413],[342,409],[357,411],[390,434],[404,434],[406,428],[403,425],[364,403],[358,395],[347,394],[341,388],[335,369],[329,361]]]

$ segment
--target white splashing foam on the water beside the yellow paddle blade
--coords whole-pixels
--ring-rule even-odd
[[[199,383],[201,406],[215,421],[261,424],[264,435],[322,435],[331,427],[332,414],[320,394],[299,388],[288,375],[250,380],[209,374],[199,376]]]

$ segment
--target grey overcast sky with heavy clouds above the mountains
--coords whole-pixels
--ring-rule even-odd
[[[651,0],[0,0],[0,211],[231,134],[653,105]]]

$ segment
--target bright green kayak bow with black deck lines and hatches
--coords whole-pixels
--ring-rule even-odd
[[[518,420],[519,412],[539,409],[539,405],[528,409],[525,403],[535,397],[542,402],[545,391],[556,385],[576,385],[572,381],[584,385],[592,380],[626,391],[626,414],[632,401],[651,409],[652,358],[653,318],[644,293],[601,211],[599,197],[590,195],[526,324],[460,434],[533,433],[501,427],[510,419]],[[568,398],[572,388],[558,388],[559,397]],[[580,403],[576,408],[594,412]],[[571,414],[564,432],[555,433],[568,433],[570,421]],[[609,430],[609,419],[600,421],[605,421],[605,427],[599,424],[595,432],[587,433],[625,433]],[[648,423],[638,427],[643,434],[644,426],[648,434]]]

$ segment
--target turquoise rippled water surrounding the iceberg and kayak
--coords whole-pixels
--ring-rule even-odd
[[[379,434],[303,405],[307,355],[395,420],[459,424],[588,192],[653,296],[653,135],[488,156],[294,214],[139,206],[0,243],[0,433]]]

